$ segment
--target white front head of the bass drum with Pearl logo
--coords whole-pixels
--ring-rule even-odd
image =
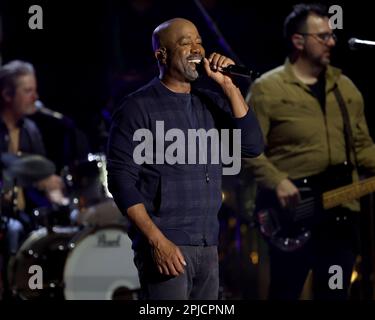
[[[86,228],[69,245],[67,300],[136,299],[140,289],[131,240],[123,226]]]

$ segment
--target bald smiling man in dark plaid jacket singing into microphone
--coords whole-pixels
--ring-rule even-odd
[[[160,161],[164,155],[155,152],[156,147],[150,161],[140,165],[133,158],[139,144],[134,134],[138,129],[150,130],[155,146],[164,141],[156,122],[165,131],[181,130],[186,138],[189,129],[237,128],[242,155],[254,157],[263,150],[260,128],[240,90],[220,72],[234,62],[218,53],[205,58],[192,22],[176,18],[162,23],[153,33],[152,45],[159,78],[126,97],[113,117],[108,145],[110,192],[133,222],[130,237],[141,298],[217,299],[221,162],[167,164]],[[221,87],[223,96],[192,88],[202,59],[204,72]],[[210,149],[209,143],[206,148]]]

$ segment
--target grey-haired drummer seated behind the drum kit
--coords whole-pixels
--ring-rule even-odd
[[[30,63],[14,60],[0,68],[0,152],[16,155],[45,155],[43,140],[35,123],[25,118],[36,112],[38,99],[35,71]],[[33,186],[42,191],[49,202],[61,204],[63,196],[62,179],[49,175],[35,181]],[[25,190],[17,188],[12,196],[16,197],[15,211],[17,219],[8,219],[7,239],[9,250],[14,254],[23,237],[31,231],[30,216],[25,213]],[[15,196],[16,194],[16,196]],[[7,195],[4,196],[6,199]]]

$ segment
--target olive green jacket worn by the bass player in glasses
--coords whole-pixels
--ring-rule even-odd
[[[283,66],[257,79],[247,96],[266,142],[264,154],[245,161],[258,184],[275,188],[286,177],[318,174],[329,165],[345,161],[343,119],[333,92],[337,85],[349,112],[358,164],[375,174],[375,145],[364,117],[363,97],[353,82],[339,69],[327,68],[324,114],[310,88],[294,75],[287,59]],[[354,179],[358,179],[356,173]],[[359,208],[358,204],[350,207]]]

